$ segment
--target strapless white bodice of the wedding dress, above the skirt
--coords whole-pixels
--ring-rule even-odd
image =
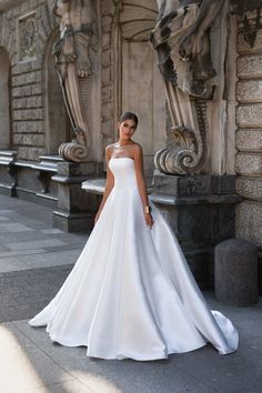
[[[128,157],[112,158],[109,168],[114,175],[114,187],[127,189],[137,185],[134,161]]]

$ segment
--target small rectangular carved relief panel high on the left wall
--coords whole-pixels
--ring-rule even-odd
[[[19,19],[19,60],[36,58],[36,13]]]

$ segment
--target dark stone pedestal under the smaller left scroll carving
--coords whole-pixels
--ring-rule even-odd
[[[67,232],[89,231],[97,210],[95,194],[88,194],[81,183],[99,173],[94,162],[61,162],[52,180],[58,183],[58,209],[53,211],[53,225]]]

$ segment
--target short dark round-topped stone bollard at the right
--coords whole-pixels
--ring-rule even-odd
[[[215,296],[235,306],[259,301],[256,246],[242,239],[230,239],[215,246]]]

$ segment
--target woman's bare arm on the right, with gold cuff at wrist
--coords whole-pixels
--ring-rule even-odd
[[[143,174],[143,152],[142,148],[137,144],[135,148],[133,149],[133,159],[134,159],[134,170],[135,170],[135,178],[138,182],[138,189],[140,196],[143,202],[143,206],[149,206],[149,196],[147,192],[147,185],[144,181],[144,174]],[[150,212],[144,212],[144,219],[147,225],[150,228],[153,224],[153,219]]]

